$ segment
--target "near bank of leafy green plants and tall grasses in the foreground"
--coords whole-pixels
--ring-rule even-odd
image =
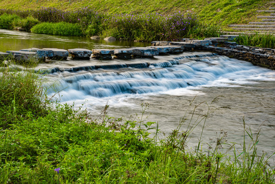
[[[142,118],[147,104],[134,120],[109,117],[108,106],[91,119],[85,110],[49,101],[37,74],[2,67],[0,78],[0,183],[275,181],[264,155],[257,155],[259,134],[252,134],[245,124],[241,150],[229,145],[227,133],[221,131],[208,151],[191,152],[186,147],[188,136],[196,124],[207,121],[209,112],[189,129],[173,130],[159,140],[157,124]],[[184,117],[179,127],[189,120]],[[149,136],[148,130],[157,134]],[[201,144],[202,137],[197,148]]]

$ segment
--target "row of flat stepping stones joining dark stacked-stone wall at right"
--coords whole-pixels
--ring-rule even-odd
[[[223,35],[225,36],[225,35]],[[178,54],[186,51],[210,51],[219,55],[228,56],[231,58],[249,61],[254,65],[259,65],[274,70],[275,67],[275,50],[268,48],[248,47],[238,45],[236,42],[228,42],[229,37],[223,38],[205,38],[205,40],[183,39],[183,41],[153,41],[152,46],[146,48],[128,48],[128,49],[24,49],[20,51],[7,51],[0,53],[0,59],[13,57],[16,60],[27,61],[32,57],[39,60],[48,59],[63,59],[66,60],[69,53],[72,59],[87,59],[90,57],[95,59],[134,59],[134,58],[153,58],[158,55]],[[150,64],[144,63],[129,63],[115,65],[94,65],[90,66],[93,69],[122,68],[122,67],[148,67]],[[152,63],[151,63],[152,65]],[[154,64],[153,64],[154,65]],[[158,64],[155,64],[158,65]],[[163,66],[165,64],[162,64]],[[169,63],[166,63],[169,65]],[[57,70],[57,69],[54,69]],[[58,69],[60,70],[60,69]],[[79,70],[71,68],[68,70]],[[52,73],[51,70],[47,72]]]

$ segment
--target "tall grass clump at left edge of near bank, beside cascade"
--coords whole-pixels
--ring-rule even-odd
[[[0,129],[30,116],[45,113],[46,96],[39,76],[32,72],[0,68]]]

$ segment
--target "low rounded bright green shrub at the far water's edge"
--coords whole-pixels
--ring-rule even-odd
[[[48,23],[43,22],[34,26],[31,32],[38,34],[65,35],[65,36],[82,36],[81,26],[67,22]]]

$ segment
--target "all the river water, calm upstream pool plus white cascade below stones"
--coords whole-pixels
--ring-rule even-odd
[[[94,42],[88,38],[33,35],[0,30],[0,51],[26,48],[124,48],[133,42]],[[142,63],[156,63],[141,68]],[[157,56],[154,59],[133,59],[111,61],[55,61],[40,64],[37,68],[70,68],[102,64],[138,63],[140,68],[80,70],[78,72],[56,72],[45,76],[47,83],[54,83],[56,91],[61,90],[61,102],[78,107],[84,103],[94,117],[97,117],[108,103],[109,116],[129,119],[132,114],[141,114],[140,104],[148,103],[146,121],[159,123],[162,133],[175,129],[187,109],[196,105],[192,123],[200,120],[211,106],[203,132],[203,141],[213,142],[220,130],[228,133],[228,142],[241,144],[243,121],[253,133],[260,132],[258,150],[267,155],[275,151],[275,71],[254,66],[249,62],[230,59],[209,52],[185,52],[179,55]],[[49,95],[54,94],[49,90]],[[217,98],[211,105],[213,99]],[[193,101],[193,102],[192,102]],[[190,103],[192,102],[191,106]],[[190,112],[189,111],[189,112]],[[183,124],[185,130],[190,120]],[[203,122],[192,131],[189,148],[195,147],[202,132]],[[162,135],[164,136],[164,135]],[[246,136],[248,139],[248,136]],[[273,163],[273,157],[270,160]]]

